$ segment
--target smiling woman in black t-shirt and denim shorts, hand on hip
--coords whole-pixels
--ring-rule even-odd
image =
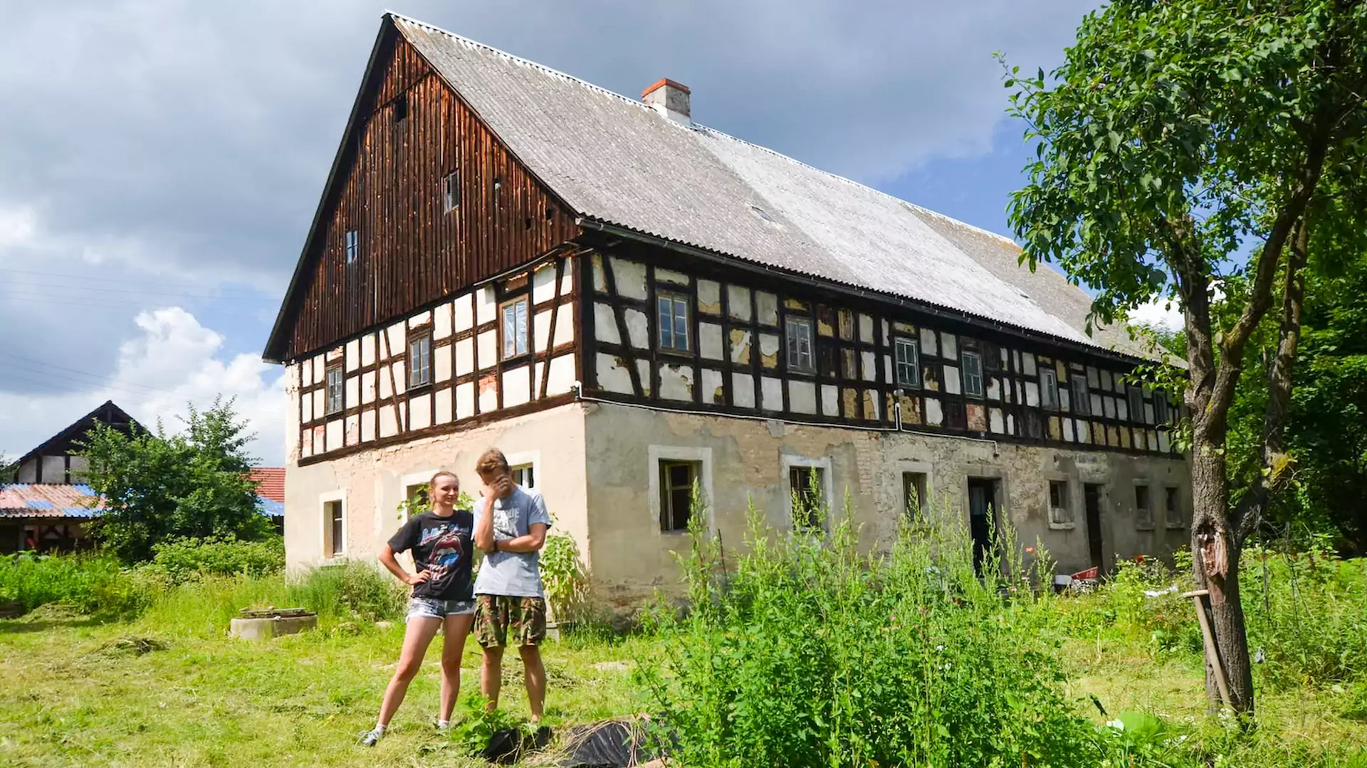
[[[403,584],[413,588],[409,599],[407,627],[403,633],[403,650],[399,666],[394,670],[390,687],[384,690],[380,704],[380,719],[375,728],[361,737],[361,743],[375,746],[380,741],[390,719],[403,702],[409,683],[422,668],[422,656],[436,635],[446,629],[442,644],[442,715],[437,728],[446,730],[451,722],[451,709],[461,693],[461,655],[465,652],[465,635],[470,634],[474,622],[474,596],[470,592],[470,556],[473,544],[470,532],[474,517],[469,510],[457,510],[461,496],[461,481],[448,471],[432,476],[428,484],[432,511],[414,515],[394,538],[380,548],[380,562]],[[395,552],[413,552],[416,574],[409,574],[395,559]]]

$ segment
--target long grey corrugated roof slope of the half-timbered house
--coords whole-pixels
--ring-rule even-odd
[[[893,294],[1074,343],[1089,298],[1014,266],[1020,250],[849,179],[437,27],[399,31],[577,212],[761,265]],[[1006,262],[1013,269],[1003,269]],[[1081,313],[1079,314],[1079,309]]]

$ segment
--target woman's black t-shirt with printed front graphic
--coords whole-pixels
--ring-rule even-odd
[[[413,597],[429,600],[473,600],[470,563],[474,551],[470,534],[474,515],[457,510],[448,518],[436,512],[422,512],[403,523],[390,538],[395,552],[413,551],[413,566],[418,573],[432,573],[432,578],[413,588]]]

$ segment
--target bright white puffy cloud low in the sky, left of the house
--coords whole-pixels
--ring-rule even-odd
[[[57,365],[34,366],[34,379],[46,379],[40,394],[0,392],[0,450],[15,458],[85,415],[113,400],[148,428],[160,418],[170,432],[183,425],[186,403],[204,409],[215,396],[235,398],[234,407],[256,432],[249,451],[265,465],[284,462],[284,377],[257,355],[224,355],[223,336],[178,306],[141,312],[139,333],[119,347],[115,373],[89,385],[79,373],[79,357]],[[89,387],[89,391],[86,391]]]

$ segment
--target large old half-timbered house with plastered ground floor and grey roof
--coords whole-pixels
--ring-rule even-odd
[[[670,579],[694,484],[727,541],[750,500],[823,529],[848,493],[869,547],[930,499],[1069,570],[1166,553],[1170,402],[1017,256],[694,123],[673,81],[627,98],[385,15],[265,350],[288,562],[372,555],[491,445],[610,599]]]

